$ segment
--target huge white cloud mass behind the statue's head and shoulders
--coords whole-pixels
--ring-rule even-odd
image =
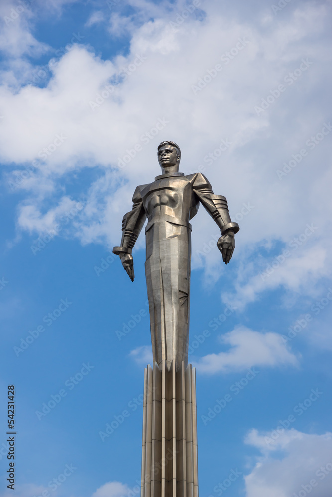
[[[324,271],[329,274],[332,269],[328,229],[331,205],[317,202],[321,187],[330,198],[327,188],[331,180],[331,137],[326,136],[313,150],[305,145],[327,120],[325,100],[331,74],[331,51],[325,43],[328,7],[309,1],[296,8],[290,6],[293,10],[289,9],[289,15],[278,18],[267,15],[263,7],[253,24],[236,16],[230,20],[220,4],[206,2],[201,7],[206,12],[204,20],[197,20],[193,14],[174,31],[169,22],[176,20],[183,2],[130,4],[137,15],[134,25],[130,25],[131,43],[126,57],[103,61],[91,48],[75,45],[52,69],[45,88],[12,90],[8,84],[1,86],[3,162],[16,163],[17,170],[17,165],[39,157],[57,134],[67,137],[40,163],[34,179],[22,184],[27,199],[19,212],[23,209],[26,215],[19,215],[22,224],[19,221],[18,226],[29,229],[35,223],[36,212],[45,216],[46,205],[53,202],[49,207],[52,214],[60,202],[59,182],[63,184],[68,173],[98,167],[100,177],[90,188],[91,199],[81,221],[73,225],[72,236],[83,243],[116,245],[121,218],[130,208],[135,186],[151,181],[159,171],[158,143],[173,139],[182,149],[181,169],[189,173],[201,164],[216,193],[227,196],[233,217],[241,214],[243,202],[254,206],[239,220],[241,231],[227,268],[217,248],[207,257],[197,255],[203,242],[208,243],[218,232],[202,209],[193,220],[193,267],[203,265],[208,280],[215,282],[223,271],[231,271],[240,261],[232,297],[239,305],[280,286],[292,292],[311,291],[312,279],[319,281]],[[150,7],[153,10],[149,18]],[[126,22],[119,16],[118,29]],[[239,38],[244,46],[236,53]],[[235,55],[231,59],[226,53],[232,49]],[[137,54],[142,61],[137,60]],[[285,83],[284,77],[294,72],[303,58],[309,60],[307,69],[294,83]],[[135,65],[135,60],[141,64]],[[119,78],[122,68],[130,64],[129,75]],[[222,71],[215,71],[215,77],[201,91],[193,91],[200,79],[208,75],[209,80],[208,70],[211,72],[216,64],[221,64]],[[9,78],[7,74],[6,78],[9,81],[13,76]],[[258,116],[254,107],[261,105],[262,99],[280,83],[285,85],[285,91]],[[115,86],[109,94],[105,89],[108,84]],[[92,110],[90,102],[99,103]],[[146,133],[158,119],[168,122],[157,136],[147,139]],[[219,145],[227,139],[232,144],[221,152]],[[119,159],[135,144],[142,150],[118,170]],[[276,170],[303,147],[308,149],[308,157],[280,181]],[[62,191],[60,196],[64,194]],[[28,211],[26,206],[33,209]],[[315,245],[308,252],[298,250],[292,261],[289,259],[265,282],[261,281],[255,270],[257,266],[264,267],[259,263],[264,259],[256,252],[271,241],[287,244],[306,223],[317,220]]]

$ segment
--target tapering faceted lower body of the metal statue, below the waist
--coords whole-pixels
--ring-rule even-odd
[[[146,283],[153,361],[188,361],[190,230],[168,221],[146,231]]]

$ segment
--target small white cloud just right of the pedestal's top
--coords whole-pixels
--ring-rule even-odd
[[[238,326],[221,335],[221,343],[230,345],[227,352],[209,354],[195,364],[202,373],[228,373],[242,371],[251,366],[297,366],[298,359],[288,350],[277,333],[259,333],[245,326]]]

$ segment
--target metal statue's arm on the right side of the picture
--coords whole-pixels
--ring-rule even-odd
[[[203,174],[196,176],[193,189],[204,208],[220,228],[221,237],[217,242],[217,247],[222,253],[223,261],[228,264],[235,248],[234,235],[240,228],[230,218],[226,197],[215,195],[211,184]]]

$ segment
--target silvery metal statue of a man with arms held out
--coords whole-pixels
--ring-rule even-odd
[[[232,223],[227,200],[215,195],[201,173],[179,172],[179,146],[164,141],[158,146],[161,175],[150,184],[137,186],[133,207],[122,221],[122,240],[113,253],[134,281],[132,248],[146,218],[145,274],[150,311],[153,363],[172,361],[178,371],[188,364],[191,224],[201,202],[221,230],[217,247],[225,264],[234,248],[237,223]]]

